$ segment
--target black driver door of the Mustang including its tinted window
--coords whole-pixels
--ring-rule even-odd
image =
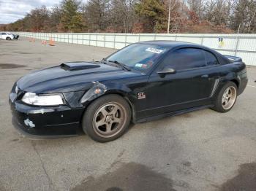
[[[157,71],[175,69],[174,74]],[[183,48],[169,52],[148,79],[145,117],[210,104],[214,76],[206,66],[203,50]]]

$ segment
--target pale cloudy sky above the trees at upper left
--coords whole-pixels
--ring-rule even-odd
[[[0,24],[12,23],[23,18],[31,9],[52,7],[61,0],[0,0]]]

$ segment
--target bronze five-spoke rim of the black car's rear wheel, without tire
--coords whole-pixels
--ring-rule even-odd
[[[222,95],[223,109],[230,109],[236,102],[236,88],[233,86],[227,87]]]

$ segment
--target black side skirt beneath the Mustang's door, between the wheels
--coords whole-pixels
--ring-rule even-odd
[[[170,116],[176,116],[176,115],[179,115],[179,114],[186,114],[188,112],[193,112],[193,111],[197,111],[197,110],[201,110],[201,109],[207,109],[207,108],[211,108],[213,106],[214,105],[197,106],[197,107],[192,107],[192,108],[189,108],[189,109],[179,110],[179,111],[176,111],[176,112],[159,114],[159,115],[156,115],[156,116],[146,117],[146,118],[136,120],[135,123],[148,122],[148,121],[152,121],[152,120],[159,120],[163,117],[170,117]]]

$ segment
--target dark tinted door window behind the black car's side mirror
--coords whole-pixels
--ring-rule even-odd
[[[195,69],[206,66],[206,58],[203,50],[196,48],[182,48],[170,52],[163,61],[164,67],[176,70]]]

